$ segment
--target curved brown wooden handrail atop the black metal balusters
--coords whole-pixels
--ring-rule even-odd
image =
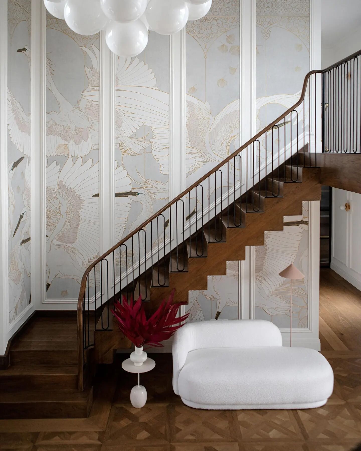
[[[313,74],[322,74],[325,72],[328,72],[329,70],[337,67],[340,64],[343,64],[347,62],[348,60],[352,60],[356,58],[357,56],[361,55],[361,50],[353,53],[350,56],[347,56],[347,58],[344,58],[337,63],[329,66],[326,69],[319,69],[319,70],[311,70],[308,72],[308,74],[305,75],[305,79],[302,86],[301,96],[299,100],[291,107],[288,108],[284,113],[282,113],[280,116],[278,116],[277,119],[273,120],[270,124],[268,124],[264,129],[260,130],[258,133],[255,134],[253,138],[248,140],[245,144],[243,144],[241,147],[239,147],[235,152],[231,153],[231,155],[227,156],[223,161],[218,163],[217,166],[215,166],[212,170],[208,171],[205,175],[203,175],[200,179],[198,179],[196,182],[194,182],[192,185],[190,185],[187,189],[185,189],[182,193],[180,193],[176,198],[172,199],[170,202],[167,203],[164,207],[162,207],[157,213],[155,213],[153,216],[148,218],[147,221],[143,222],[140,226],[138,226],[136,229],[132,230],[125,238],[121,239],[117,244],[115,244],[111,249],[103,253],[100,257],[98,257],[94,262],[89,265],[89,267],[84,272],[84,275],[82,277],[82,281],[80,284],[80,290],[79,290],[79,299],[78,299],[78,374],[79,374],[79,388],[83,387],[83,300],[85,296],[85,289],[87,284],[87,277],[90,273],[90,271],[103,259],[108,257],[112,252],[114,252],[117,248],[119,248],[122,244],[124,244],[128,239],[130,239],[132,236],[134,236],[137,232],[142,230],[144,227],[146,227],[148,224],[150,224],[154,219],[156,219],[160,214],[165,212],[168,208],[170,208],[172,205],[174,205],[176,202],[178,202],[181,198],[183,198],[186,194],[190,193],[192,189],[194,189],[197,185],[199,185],[201,182],[203,182],[205,179],[207,179],[210,175],[214,174],[218,169],[220,169],[224,164],[226,164],[228,161],[230,161],[232,158],[234,158],[236,155],[238,155],[242,150],[247,148],[250,144],[255,142],[257,138],[262,136],[264,133],[267,133],[269,130],[271,130],[278,122],[280,122],[282,119],[285,119],[288,114],[290,114],[292,111],[294,111],[297,106],[300,106],[302,101],[305,99],[305,93],[307,84],[310,80],[311,75]],[[82,388],[81,388],[82,389]]]

